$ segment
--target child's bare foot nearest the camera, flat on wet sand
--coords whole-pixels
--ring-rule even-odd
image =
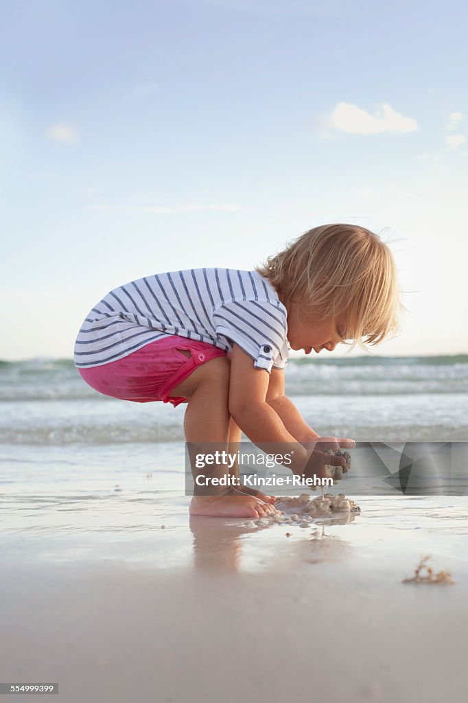
[[[190,515],[209,515],[211,517],[268,517],[278,510],[273,505],[264,503],[254,496],[193,496],[190,502]]]

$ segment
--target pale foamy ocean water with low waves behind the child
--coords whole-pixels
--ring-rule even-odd
[[[0,361],[4,529],[148,529],[184,495],[182,404],[94,392],[68,359]],[[286,392],[322,435],[468,441],[468,355],[292,359]],[[158,503],[159,504],[159,503]]]

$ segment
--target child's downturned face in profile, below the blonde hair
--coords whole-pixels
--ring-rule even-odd
[[[342,330],[346,329],[346,320],[318,321],[311,314],[304,312],[302,304],[291,302],[287,315],[287,341],[291,349],[304,349],[310,354],[312,349],[316,354],[327,349],[333,349],[343,341]]]

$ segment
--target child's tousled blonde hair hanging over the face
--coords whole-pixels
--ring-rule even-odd
[[[353,347],[379,344],[399,331],[403,306],[394,256],[364,227],[314,227],[256,271],[270,280],[286,306],[303,303],[304,314],[320,321],[345,316],[346,330],[340,331]]]

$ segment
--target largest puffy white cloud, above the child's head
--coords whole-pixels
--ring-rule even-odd
[[[333,112],[321,122],[325,129],[334,129],[346,134],[405,133],[417,130],[417,122],[403,117],[388,103],[376,105],[375,115],[351,103],[339,103]]]

